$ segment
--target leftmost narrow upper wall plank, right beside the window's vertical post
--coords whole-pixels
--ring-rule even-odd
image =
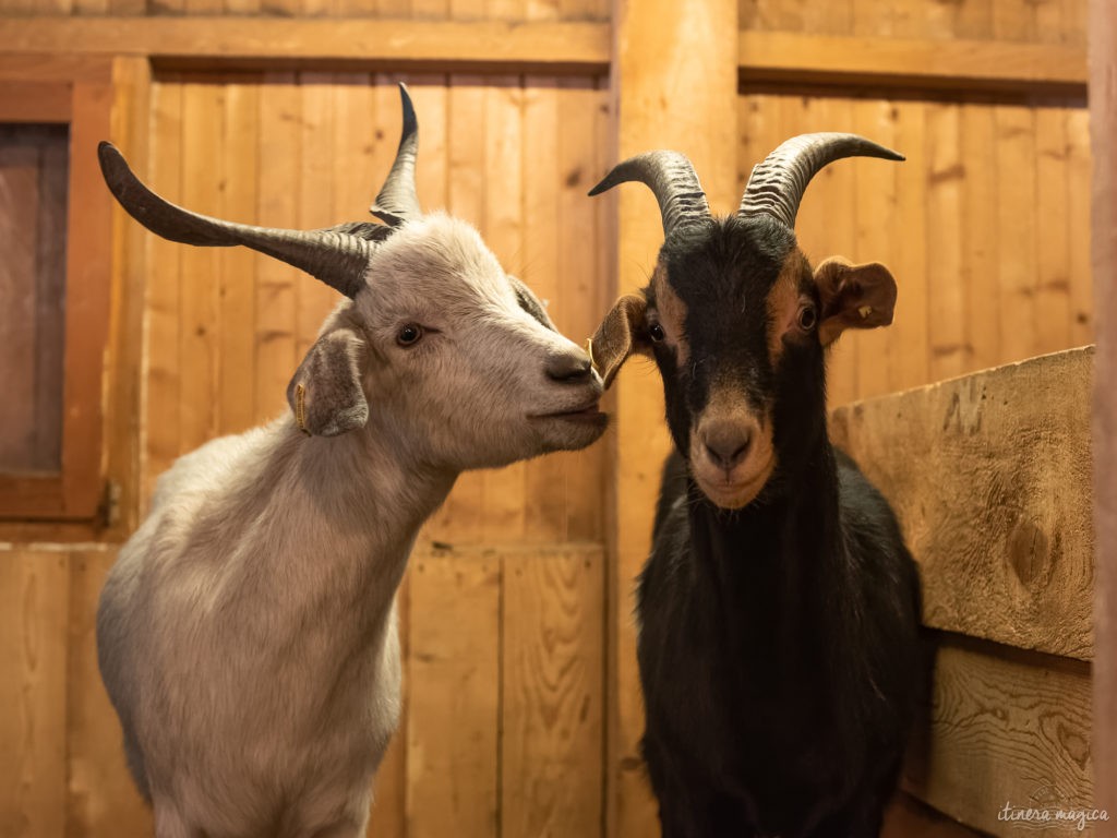
[[[166,200],[182,203],[182,85],[174,77],[153,85],[152,92],[152,185]],[[179,280],[184,247],[154,234],[146,235],[147,282],[144,352],[147,356],[145,400],[144,486],[146,508],[155,479],[170,467],[181,450],[179,392],[182,330]]]

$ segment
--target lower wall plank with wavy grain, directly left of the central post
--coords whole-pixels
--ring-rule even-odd
[[[601,835],[600,547],[504,561],[502,838]]]

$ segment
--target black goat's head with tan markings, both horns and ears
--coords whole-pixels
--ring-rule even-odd
[[[884,265],[831,258],[812,270],[795,240],[806,184],[848,156],[904,159],[853,134],[804,134],[753,169],[737,213],[720,219],[677,152],[627,160],[590,193],[634,180],[659,200],[651,282],[605,316],[593,353],[607,385],[632,352],[655,359],[671,436],[717,506],[752,502],[824,428],[824,349],[846,328],[891,323]]]

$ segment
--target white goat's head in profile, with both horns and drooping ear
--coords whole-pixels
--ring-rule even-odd
[[[102,171],[152,232],[188,245],[245,245],[349,297],[287,390],[307,434],[369,428],[407,440],[418,461],[458,470],[590,445],[607,422],[600,377],[471,226],[422,213],[418,125],[400,92],[403,134],[371,208],[385,225],[278,230],[200,216],[144,187],[108,143],[99,149]]]

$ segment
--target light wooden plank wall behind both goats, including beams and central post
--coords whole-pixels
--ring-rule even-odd
[[[293,54],[306,60],[273,61],[245,15],[278,27],[267,31],[294,39]],[[585,197],[619,153],[666,142],[691,154],[715,209],[728,211],[752,164],[792,134],[851,130],[892,145],[907,163],[838,163],[800,215],[812,258],[882,260],[900,289],[891,328],[836,349],[837,406],[1091,340],[1087,120],[1083,86],[1065,70],[1081,58],[1083,15],[1085,0],[0,0],[0,45],[41,49],[57,36],[60,49],[96,49],[82,27],[105,16],[108,28],[89,31],[113,49],[157,56],[156,36],[173,41],[173,60],[154,64],[140,132],[150,181],[192,209],[276,226],[366,217],[398,137],[394,84],[407,80],[423,204],[477,223],[577,341],[618,293],[642,284],[658,246],[650,197]],[[336,21],[331,37],[367,34],[375,66],[354,66],[355,41],[331,63],[321,34],[298,51],[286,25],[302,18]],[[513,48],[491,64],[467,44],[468,60],[449,69],[441,59],[400,64],[392,50],[405,47],[385,40],[376,53],[380,30],[361,29],[366,18],[480,21],[435,30],[496,32]],[[669,18],[677,26],[665,27]],[[525,22],[485,28],[509,20]],[[204,29],[174,40],[178,21]],[[589,29],[544,31],[532,21]],[[220,55],[221,31],[233,34],[229,49],[240,58]],[[754,61],[753,36],[791,44],[802,77]],[[608,38],[611,56],[600,46]],[[687,39],[708,67],[677,49]],[[894,42],[900,53],[887,53]],[[920,75],[903,64],[936,45],[983,55],[974,42],[1022,50],[995,54],[1039,69],[983,65],[985,82],[974,86],[952,82],[949,67]],[[553,68],[528,66],[536,47]],[[868,48],[901,58],[869,76],[850,70]],[[191,49],[211,51],[188,67]],[[661,95],[687,67],[695,87]],[[286,409],[289,375],[334,304],[328,289],[273,260],[194,250],[134,227],[122,258],[146,270],[121,293],[125,308],[142,307],[143,351],[134,363],[114,355],[113,374],[143,398],[137,417],[111,429],[121,440],[131,421],[139,439],[135,485],[125,480],[125,497],[137,499],[125,520],[142,512],[175,456]],[[120,321],[117,335],[130,323]],[[647,365],[630,365],[618,390],[619,429],[604,442],[465,475],[424,530],[400,593],[407,714],[371,834],[651,834],[634,749],[642,720],[629,594],[666,434]],[[149,829],[93,647],[96,596],[120,535],[74,545],[0,527],[10,540],[0,542],[0,707],[16,710],[0,717],[0,753],[19,754],[0,761],[2,838]]]

